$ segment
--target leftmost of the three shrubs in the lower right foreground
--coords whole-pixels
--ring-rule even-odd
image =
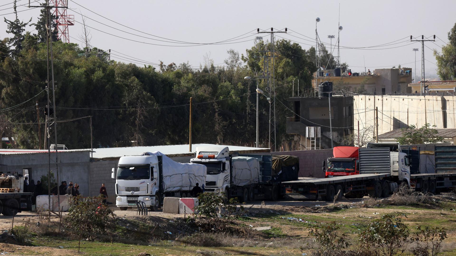
[[[350,246],[350,243],[345,238],[345,234],[339,234],[337,232],[339,228],[336,222],[332,222],[330,225],[321,228],[311,228],[310,234],[313,236],[313,241],[318,244],[320,254],[324,254],[325,251],[341,251]]]

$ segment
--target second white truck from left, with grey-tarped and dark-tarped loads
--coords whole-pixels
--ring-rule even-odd
[[[219,145],[197,147],[190,162],[207,167],[205,192],[225,193],[240,202],[283,197],[281,182],[297,179],[299,172],[295,156],[230,154],[228,147]]]

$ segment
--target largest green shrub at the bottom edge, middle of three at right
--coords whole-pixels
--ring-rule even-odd
[[[409,228],[402,223],[400,216],[405,214],[386,214],[378,220],[373,220],[366,230],[359,234],[361,246],[367,250],[376,251],[383,256],[394,256],[404,253]]]

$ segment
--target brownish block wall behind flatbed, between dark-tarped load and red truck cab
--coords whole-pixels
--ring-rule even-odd
[[[332,149],[282,151],[271,154],[299,157],[299,177],[325,178],[325,172],[321,167],[324,159],[332,157]]]

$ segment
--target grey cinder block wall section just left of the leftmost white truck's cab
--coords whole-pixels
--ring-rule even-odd
[[[100,194],[101,184],[104,183],[108,192],[109,202],[115,203],[115,179],[111,179],[111,169],[117,166],[119,160],[94,161],[90,164],[90,195]]]

